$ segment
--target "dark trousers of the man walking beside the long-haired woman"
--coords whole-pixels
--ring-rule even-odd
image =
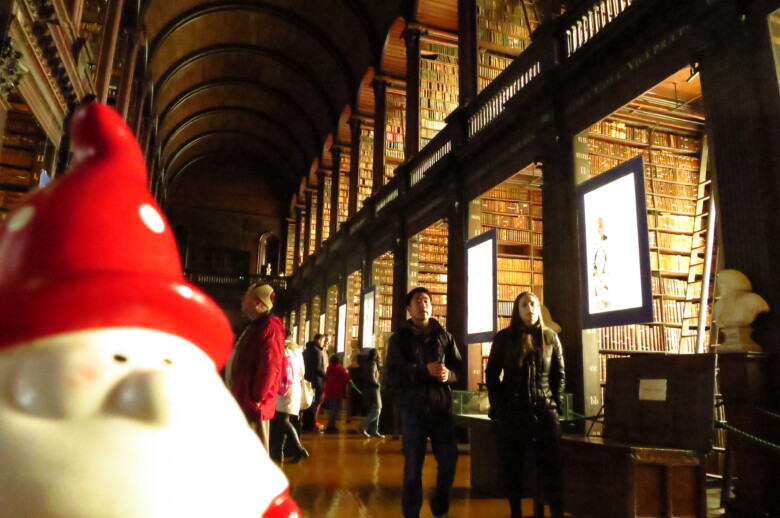
[[[444,514],[450,508],[450,489],[458,464],[458,443],[451,414],[403,412],[401,433],[404,451],[404,488],[401,507],[405,518],[418,518],[422,508],[422,468],[428,439],[436,458],[436,490],[431,497],[431,512]]]

